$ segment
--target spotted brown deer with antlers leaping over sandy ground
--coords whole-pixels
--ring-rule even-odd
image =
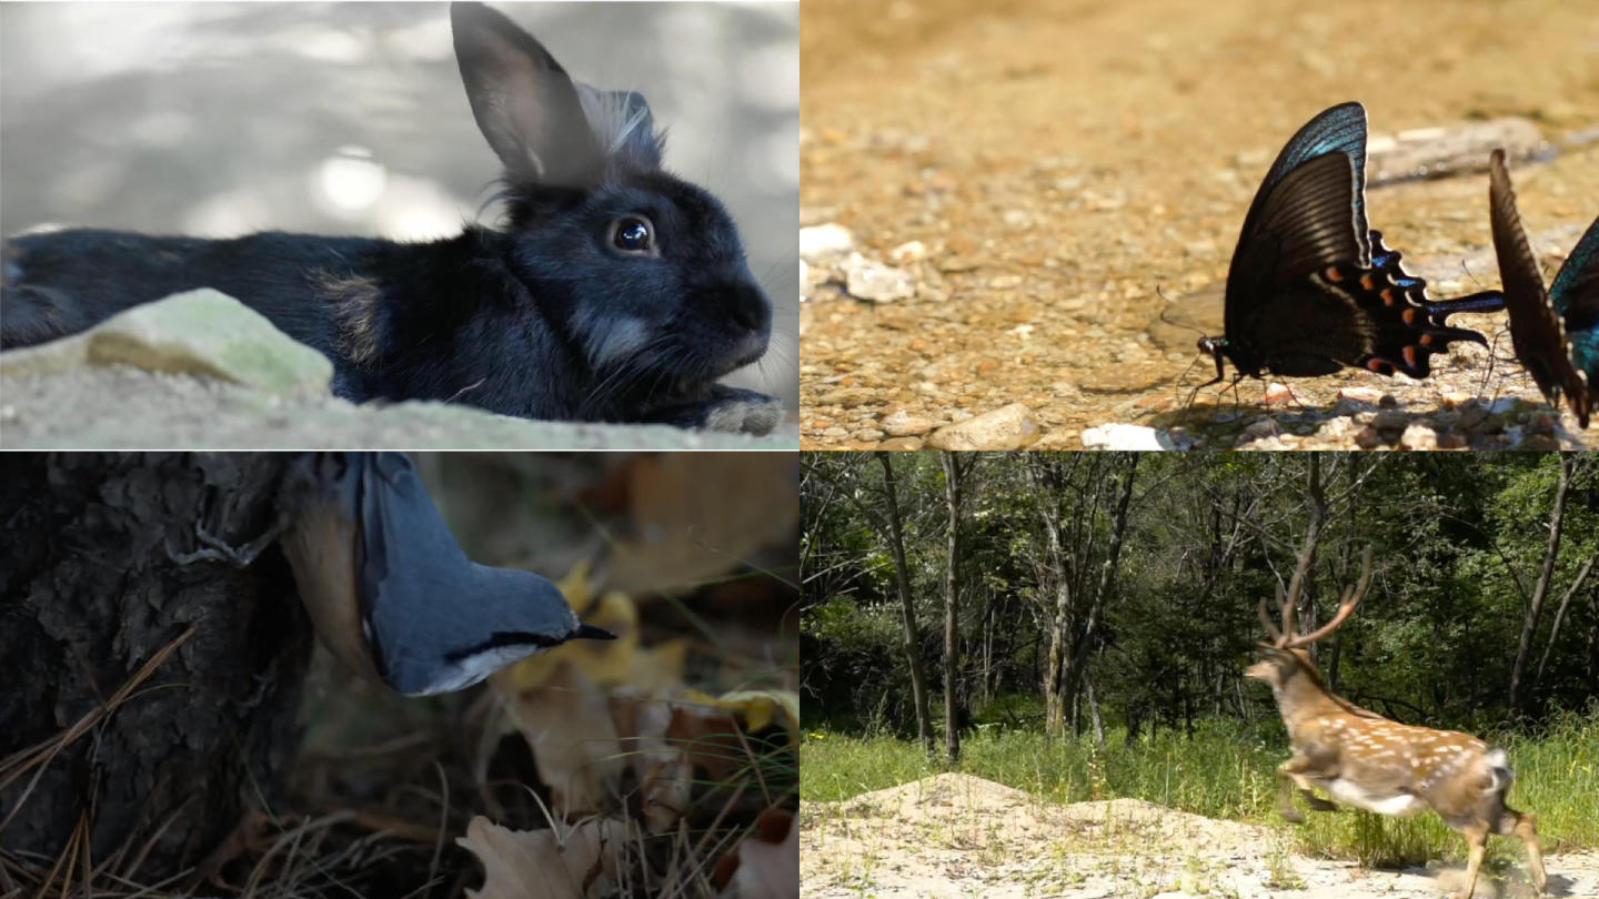
[[[1316,811],[1338,806],[1313,793],[1311,787],[1378,814],[1407,817],[1433,809],[1469,845],[1463,899],[1476,888],[1489,833],[1514,833],[1527,845],[1527,865],[1541,893],[1546,878],[1537,819],[1505,801],[1513,774],[1503,749],[1490,749],[1471,734],[1390,721],[1322,685],[1303,648],[1337,630],[1354,611],[1372,579],[1372,552],[1366,550],[1361,579],[1345,590],[1332,619],[1311,633],[1297,635],[1294,606],[1308,561],[1306,552],[1289,581],[1287,595],[1278,587],[1281,629],[1262,600],[1260,621],[1271,643],[1260,645],[1265,657],[1244,672],[1271,686],[1294,747],[1294,757],[1278,766],[1278,811],[1287,821],[1303,821],[1294,808],[1290,784]]]

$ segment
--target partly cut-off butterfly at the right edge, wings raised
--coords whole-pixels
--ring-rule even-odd
[[[1516,357],[1551,405],[1559,406],[1565,394],[1577,421],[1588,427],[1599,398],[1599,219],[1588,226],[1545,293],[1538,259],[1516,213],[1505,150],[1493,150],[1489,160],[1489,216]]]

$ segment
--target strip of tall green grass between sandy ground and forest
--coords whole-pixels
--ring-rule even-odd
[[[1209,721],[1191,741],[1162,731],[1124,747],[1119,733],[1108,737],[1099,749],[1091,739],[983,728],[963,741],[958,769],[1052,801],[1130,797],[1207,817],[1294,827],[1303,851],[1364,865],[1465,857],[1465,840],[1436,814],[1306,813],[1303,825],[1282,822],[1273,777],[1287,758],[1281,734],[1268,741],[1236,723]],[[1511,806],[1537,813],[1546,853],[1599,846],[1599,713],[1562,717],[1538,737],[1490,739],[1516,769]],[[910,741],[811,731],[800,747],[800,771],[801,800],[835,801],[945,768]],[[1295,803],[1303,808],[1297,797]],[[1489,846],[1490,857],[1521,853],[1514,838]]]

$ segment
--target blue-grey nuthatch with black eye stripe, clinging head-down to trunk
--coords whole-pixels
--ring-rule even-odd
[[[281,545],[325,646],[406,696],[478,683],[524,656],[612,633],[555,584],[478,565],[398,453],[309,453],[280,499]]]

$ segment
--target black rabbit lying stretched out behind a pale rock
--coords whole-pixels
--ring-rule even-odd
[[[334,394],[353,402],[769,430],[776,398],[715,379],[766,352],[771,302],[716,197],[660,168],[644,98],[572,82],[480,3],[451,5],[451,26],[472,112],[505,165],[504,230],[437,243],[18,237],[0,347],[209,286],[328,355]]]

